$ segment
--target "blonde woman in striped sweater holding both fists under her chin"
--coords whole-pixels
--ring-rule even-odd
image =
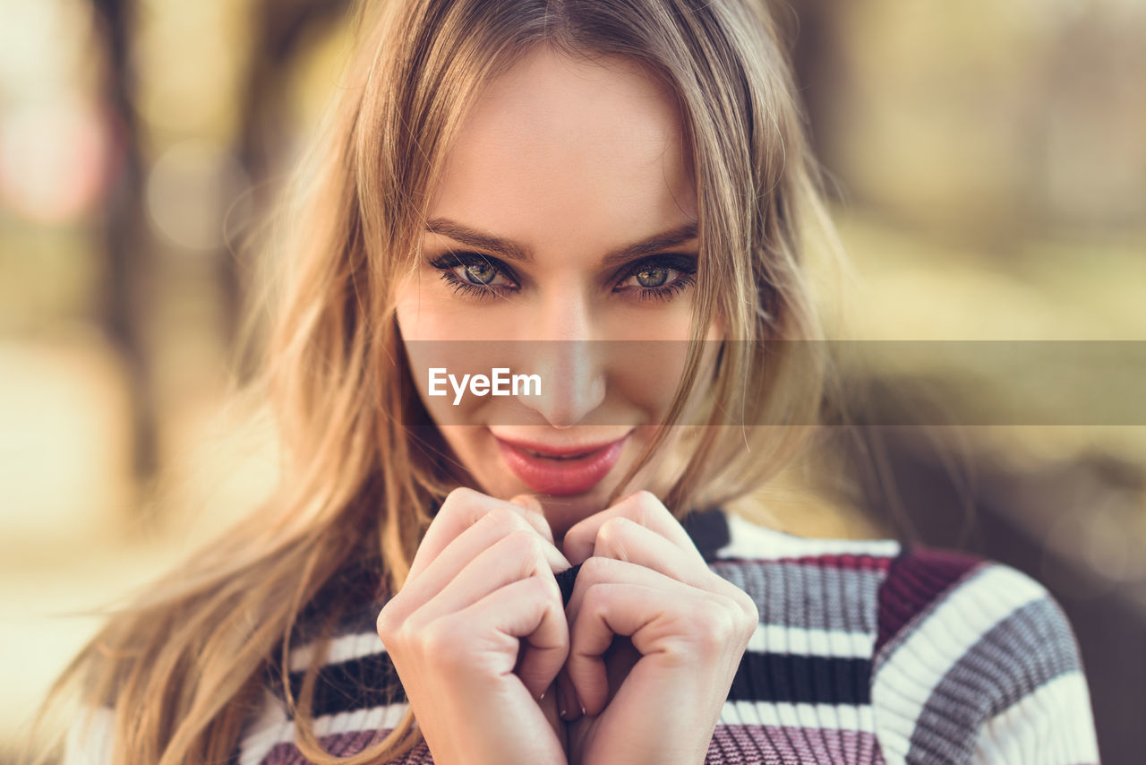
[[[725,512],[823,390],[762,5],[367,10],[283,257],[283,482],[69,668],[68,762],[1097,762],[1036,583]]]

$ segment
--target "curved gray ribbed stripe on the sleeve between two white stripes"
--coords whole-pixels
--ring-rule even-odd
[[[959,657],[932,690],[909,763],[966,763],[981,726],[1050,680],[1078,671],[1078,648],[1050,598],[1017,609]]]

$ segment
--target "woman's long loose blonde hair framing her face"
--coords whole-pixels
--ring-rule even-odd
[[[469,104],[532,46],[635,61],[683,114],[701,249],[670,423],[684,393],[700,388],[704,328],[719,317],[743,342],[722,348],[704,385],[722,405],[696,428],[665,504],[683,517],[759,489],[821,406],[823,361],[811,343],[785,341],[821,338],[801,252],[804,233],[830,223],[764,0],[386,0],[362,3],[356,21],[350,81],[296,177],[274,252],[282,276],[267,280],[280,290],[272,334],[249,389],[273,405],[282,481],[113,614],[49,694],[74,686],[86,704],[112,708],[117,764],[226,760],[268,669],[281,673],[297,744],[315,763],[385,762],[421,741],[408,712],[358,755],[324,752],[309,709],[321,661],[291,697],[290,643],[300,611],[347,564],[374,567],[379,598],[400,588],[434,508],[457,485],[445,443],[403,426],[427,415],[400,378],[390,288],[416,252],[429,192]],[[332,588],[322,606],[338,614],[350,596]]]

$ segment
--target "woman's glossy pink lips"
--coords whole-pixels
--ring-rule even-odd
[[[609,475],[628,438],[606,444],[554,447],[496,438],[502,459],[529,489],[554,497],[589,491]]]

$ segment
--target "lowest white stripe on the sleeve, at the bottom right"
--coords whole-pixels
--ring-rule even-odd
[[[1097,763],[1085,678],[1081,672],[1060,674],[988,720],[971,759],[992,765]]]

